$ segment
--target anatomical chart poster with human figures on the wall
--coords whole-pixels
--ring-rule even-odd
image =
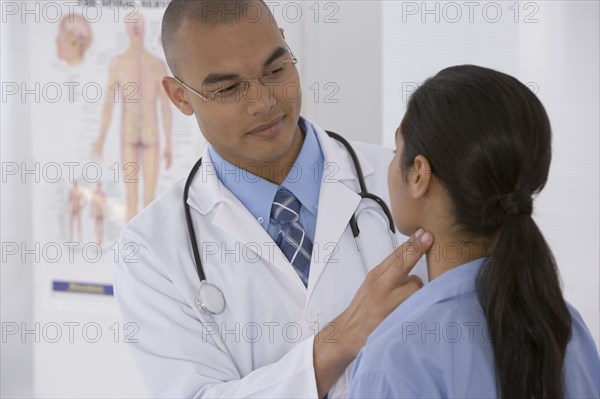
[[[186,176],[204,140],[168,100],[160,42],[166,2],[46,2],[30,24],[36,295],[44,306],[112,303],[112,264],[135,259],[122,227]],[[120,253],[122,252],[122,254]]]

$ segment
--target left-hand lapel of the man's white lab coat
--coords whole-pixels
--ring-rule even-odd
[[[218,236],[230,237],[230,240],[219,242],[219,245],[225,246],[230,251],[239,251],[240,262],[247,262],[248,267],[259,267],[255,259],[263,258],[267,264],[284,273],[292,281],[290,284],[304,291],[304,284],[298,274],[269,233],[254,219],[240,200],[220,182],[207,149],[202,159],[202,167],[190,187],[188,204],[192,209],[209,218],[211,226],[224,233]],[[207,233],[203,234],[196,229],[196,236],[201,247],[200,240],[203,237],[207,240],[210,236],[217,235],[208,234],[207,237]],[[239,242],[237,248],[236,242]],[[249,255],[249,252],[256,256]],[[249,256],[252,256],[252,260],[248,259]]]

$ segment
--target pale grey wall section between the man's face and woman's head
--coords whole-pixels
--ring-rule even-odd
[[[304,115],[347,138],[381,143],[385,3],[300,3],[305,9],[305,56],[300,59]]]

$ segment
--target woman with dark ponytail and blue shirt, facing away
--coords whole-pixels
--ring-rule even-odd
[[[503,73],[452,67],[414,93],[388,179],[398,229],[435,237],[430,283],[369,337],[351,397],[600,397],[598,351],[531,216],[550,139]]]

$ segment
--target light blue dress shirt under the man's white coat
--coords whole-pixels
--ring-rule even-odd
[[[323,177],[323,151],[321,151],[314,127],[302,117],[300,117],[298,125],[304,133],[304,143],[298,158],[281,186],[294,194],[302,204],[300,224],[314,242],[317,206]],[[281,225],[271,219],[271,207],[279,186],[226,161],[210,145],[208,151],[219,180],[244,204],[258,223],[275,240]]]

